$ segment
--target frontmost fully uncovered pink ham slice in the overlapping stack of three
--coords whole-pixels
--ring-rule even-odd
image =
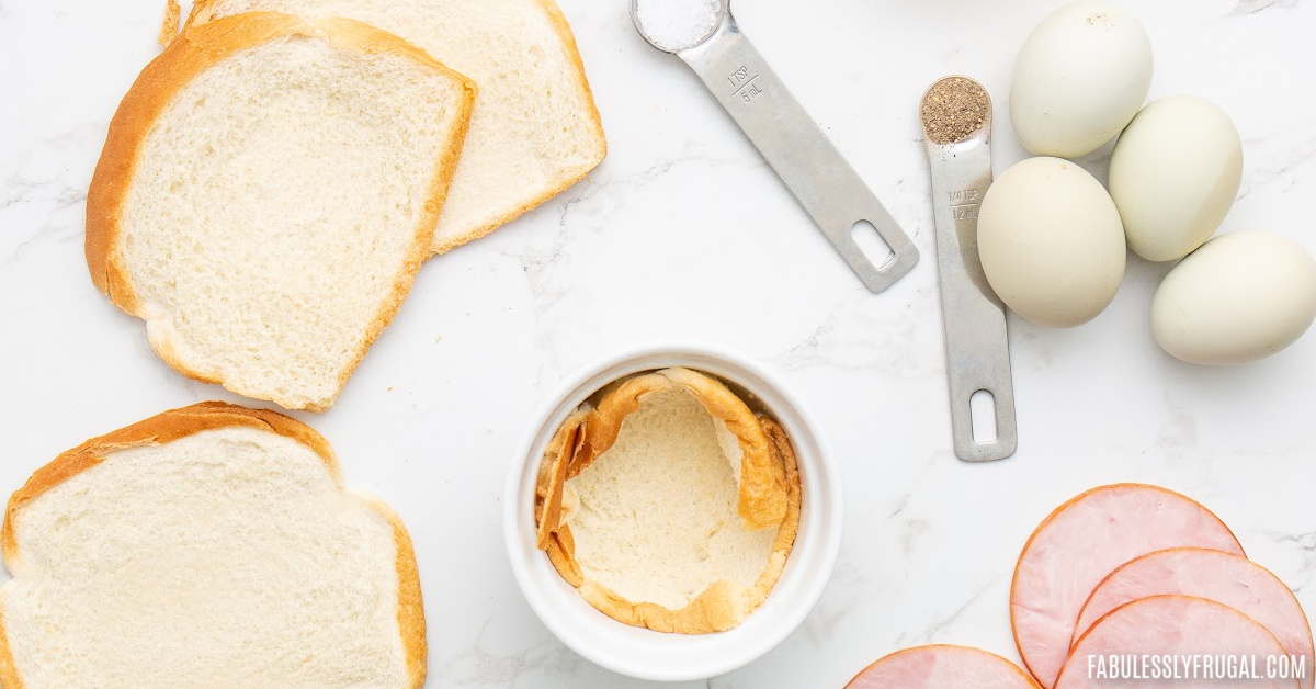
[[[1101,618],[1074,647],[1074,653],[1061,669],[1055,689],[1296,689],[1298,680],[1262,678],[1221,680],[1149,678],[1112,681],[1095,677],[1096,657],[1234,655],[1253,656],[1257,671],[1265,676],[1265,659],[1283,655],[1279,640],[1257,620],[1205,598],[1191,595],[1157,595],[1115,609]]]

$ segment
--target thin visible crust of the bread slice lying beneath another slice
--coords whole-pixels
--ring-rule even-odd
[[[213,18],[215,3],[218,0],[196,0],[196,3],[192,4],[192,12],[190,12],[187,16],[184,30],[187,26],[191,26],[193,24],[205,24],[208,21],[217,21]],[[499,215],[494,220],[490,220],[483,225],[468,228],[455,237],[438,240],[436,236],[430,249],[430,256],[447,253],[458,246],[478,240],[488,234],[490,232],[494,232],[495,229],[511,223],[512,220],[516,220],[517,217],[525,215],[526,212],[542,206],[549,199],[557,196],[558,194],[562,194],[576,182],[584,179],[584,177],[588,175],[591,170],[597,167],[599,163],[601,163],[603,159],[608,155],[608,141],[603,132],[603,119],[599,116],[599,107],[594,101],[594,90],[590,88],[590,79],[586,76],[584,61],[580,59],[580,49],[579,46],[576,46],[575,34],[571,32],[571,24],[567,22],[567,18],[562,13],[562,9],[553,0],[534,0],[534,4],[540,7],[540,9],[547,17],[549,22],[553,25],[553,29],[558,34],[558,42],[562,46],[562,51],[566,54],[567,61],[571,63],[574,71],[572,82],[576,84],[576,95],[584,104],[584,115],[591,125],[590,129],[592,140],[595,142],[596,153],[579,167],[567,170],[567,173],[562,177],[562,179],[558,180],[558,183],[547,187],[546,190],[544,190],[542,194],[529,199],[517,208],[513,208],[507,213]]]

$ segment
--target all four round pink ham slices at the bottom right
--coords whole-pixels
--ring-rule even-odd
[[[1103,486],[1051,512],[1019,556],[1009,611],[1032,677],[986,651],[924,646],[846,689],[1313,686],[1311,624],[1288,586],[1209,510],[1157,486]]]

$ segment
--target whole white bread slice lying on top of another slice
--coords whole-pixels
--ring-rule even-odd
[[[350,20],[192,28],[109,125],[87,194],[92,281],[179,372],[324,410],[429,256],[474,96]]]

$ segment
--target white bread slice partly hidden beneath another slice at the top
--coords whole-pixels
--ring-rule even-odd
[[[188,25],[251,11],[363,21],[480,86],[434,253],[553,198],[607,153],[575,38],[553,0],[199,0]]]

